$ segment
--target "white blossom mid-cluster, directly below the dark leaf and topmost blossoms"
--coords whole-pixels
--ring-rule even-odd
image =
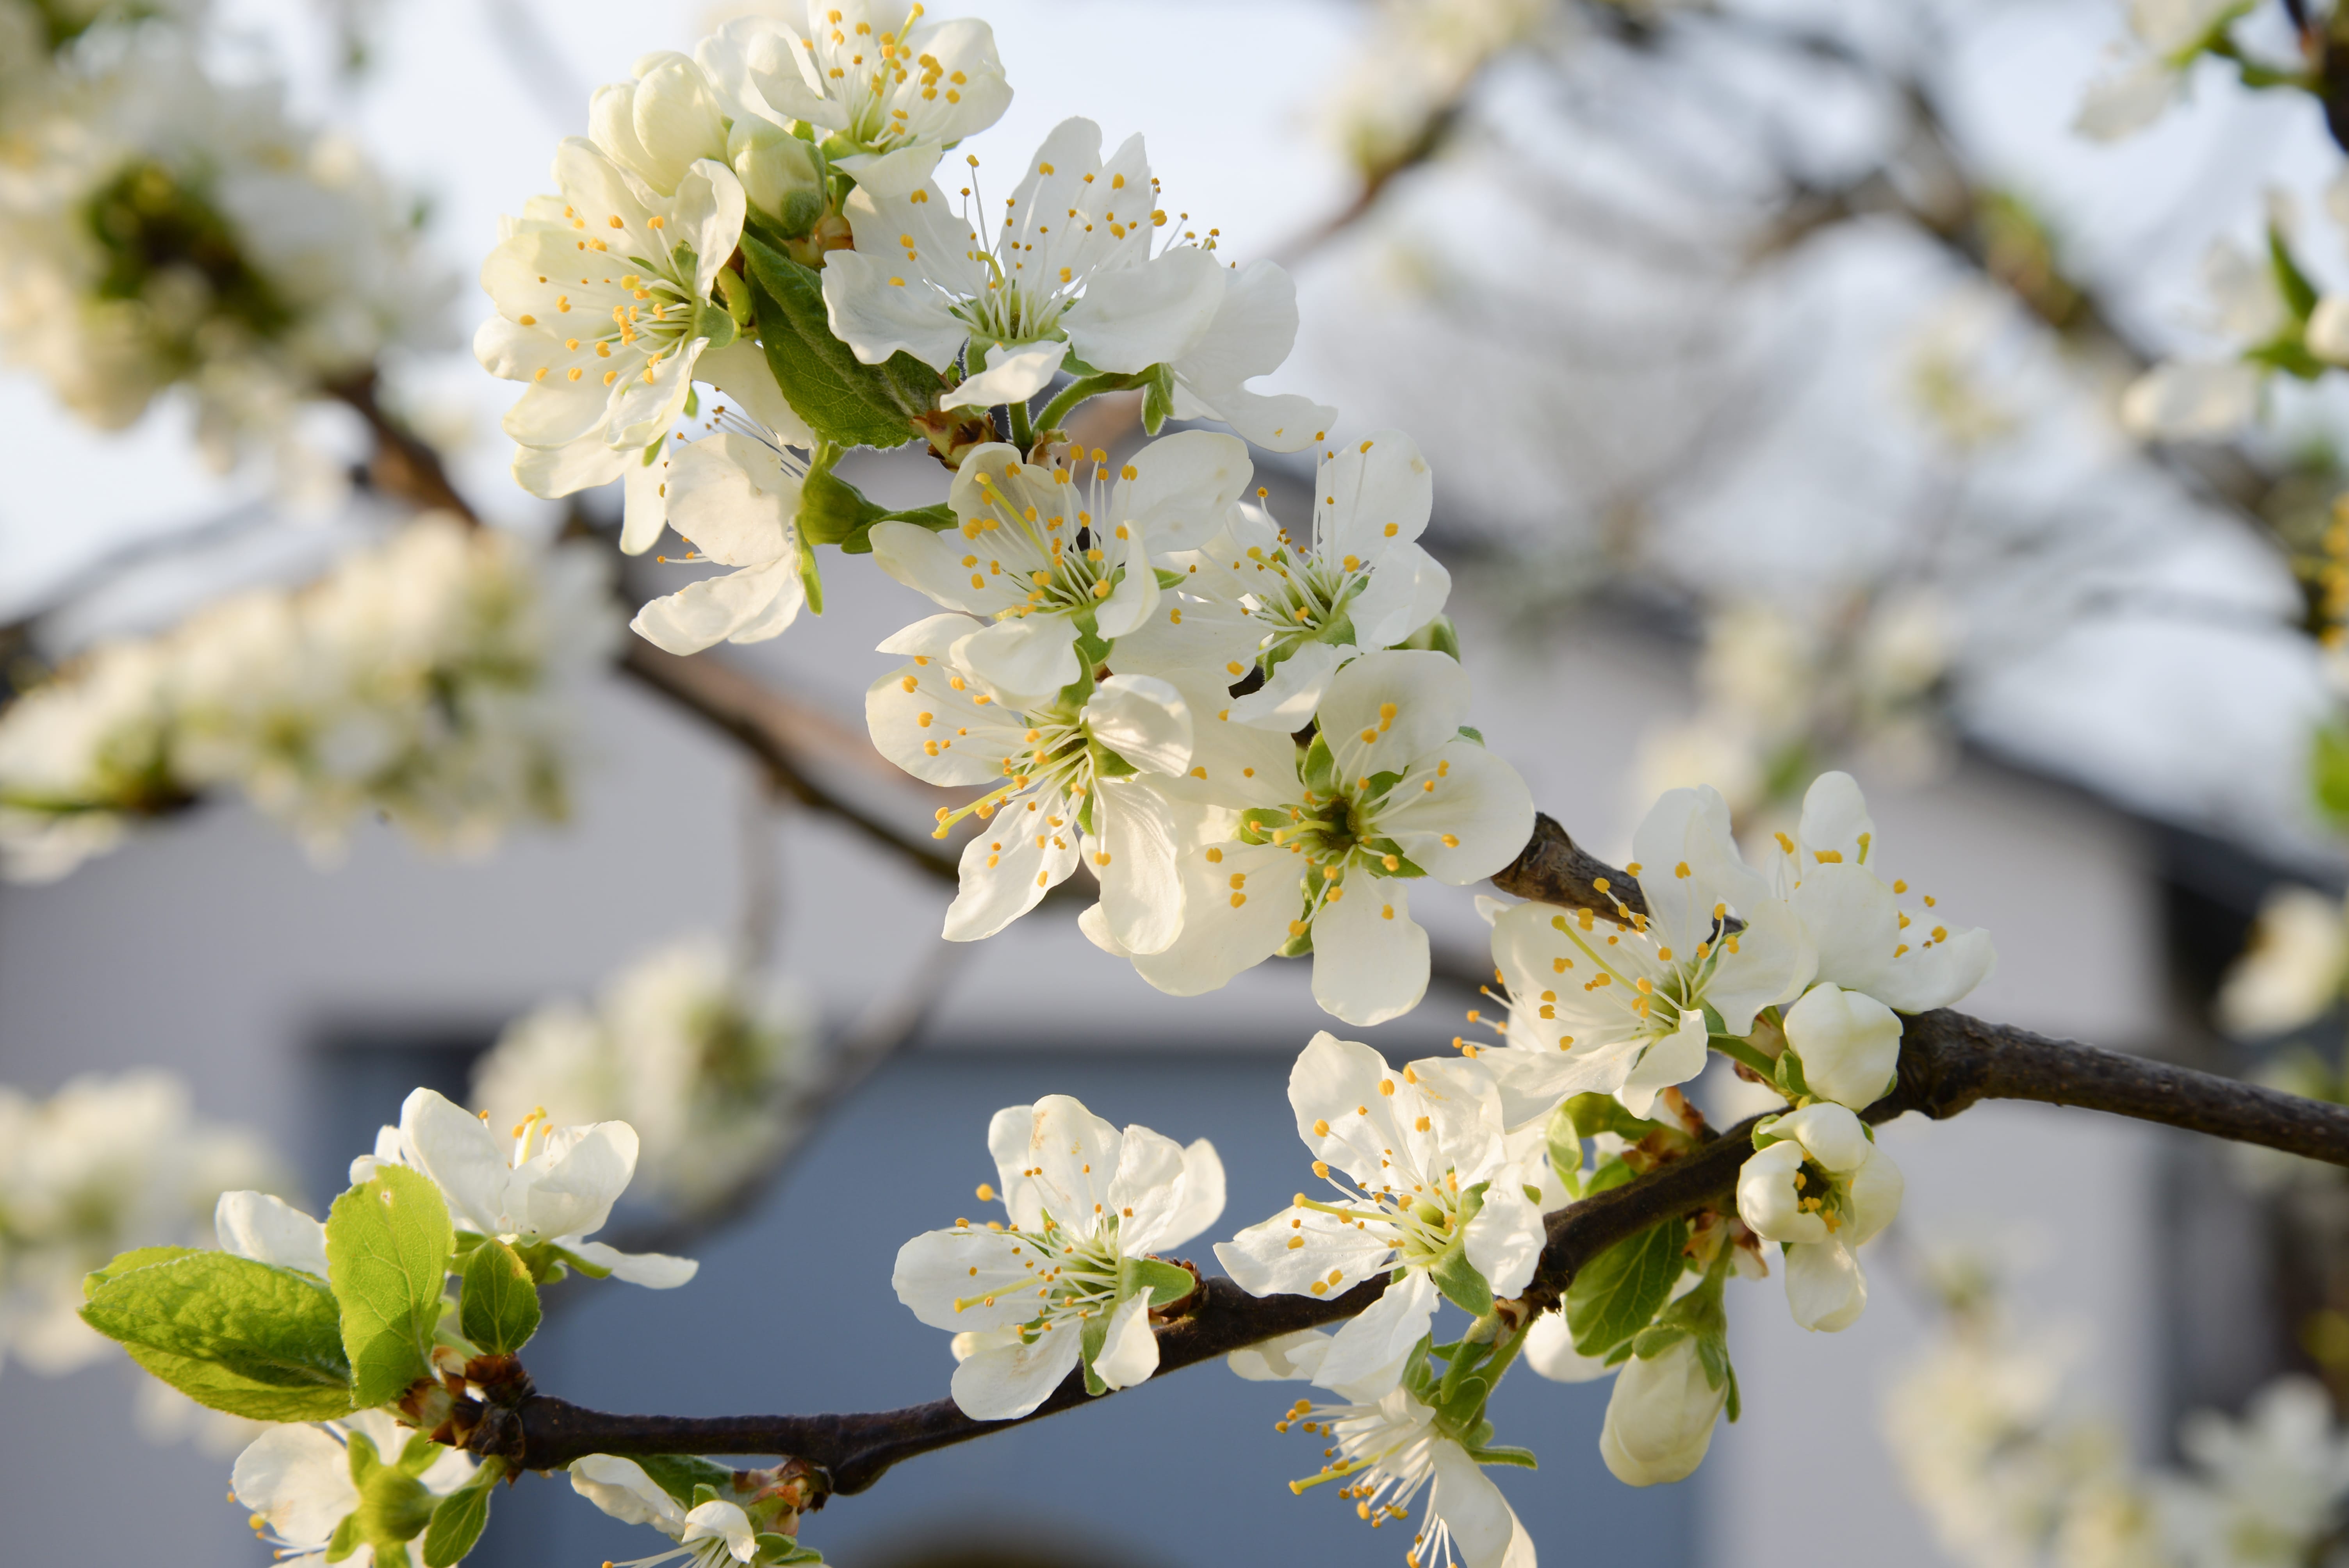
[[[1081,643],[1111,643],[1158,606],[1158,554],[1203,540],[1247,484],[1247,448],[1205,430],[1151,441],[1109,477],[1109,453],[1022,462],[987,444],[963,458],[949,505],[956,528],[871,528],[874,561],[897,582],[984,627],[954,660],[989,688],[1050,697],[1085,664]]]

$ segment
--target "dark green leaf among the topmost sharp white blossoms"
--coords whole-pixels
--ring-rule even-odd
[[[886,364],[862,364],[832,336],[822,275],[803,268],[756,235],[742,235],[742,256],[759,286],[759,345],[775,385],[808,427],[841,446],[904,446],[914,420],[937,408],[937,371],[907,352]]]

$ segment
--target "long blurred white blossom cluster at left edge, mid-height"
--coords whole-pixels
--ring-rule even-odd
[[[305,589],[99,646],[0,711],[0,866],[63,876],[214,789],[317,854],[364,812],[456,852],[557,822],[615,620],[592,547],[425,516]]]

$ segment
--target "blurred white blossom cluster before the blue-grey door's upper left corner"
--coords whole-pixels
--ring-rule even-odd
[[[709,937],[672,941],[611,979],[514,1019],[474,1063],[493,1127],[627,1120],[637,1190],[693,1214],[763,1171],[806,1127],[815,1019],[796,991],[754,988]]]

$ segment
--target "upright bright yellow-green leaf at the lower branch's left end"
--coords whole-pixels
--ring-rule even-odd
[[[327,1279],[343,1303],[352,1404],[397,1399],[432,1371],[432,1329],[449,1277],[449,1204],[402,1164],[343,1192],[327,1211]]]

